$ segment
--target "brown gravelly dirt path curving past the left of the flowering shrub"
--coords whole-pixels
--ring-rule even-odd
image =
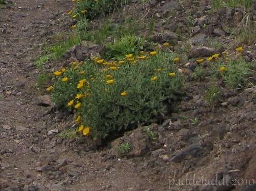
[[[0,9],[0,190],[136,190],[141,182],[147,186],[132,161],[106,161],[105,151],[82,152],[73,140],[47,135],[67,122],[42,117],[48,108],[37,105],[38,69],[32,59],[43,39],[67,28],[70,7],[70,1],[20,0]]]

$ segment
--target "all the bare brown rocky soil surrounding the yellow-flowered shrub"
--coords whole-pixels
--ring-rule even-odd
[[[207,37],[232,50],[236,44],[229,28],[240,22],[241,11],[205,14],[207,6],[207,1],[151,0],[149,14],[163,21],[154,40],[181,43],[174,31],[188,29],[184,10],[196,7],[189,57],[220,51],[198,46],[208,46]],[[158,133],[154,140],[143,127],[100,147],[58,136],[73,118],[54,110],[49,97],[37,90],[39,70],[33,60],[52,34],[72,24],[66,15],[70,7],[66,0],[18,0],[0,9],[0,190],[256,190],[256,88],[222,89],[220,104],[212,108],[204,99],[209,79],[188,82],[179,113],[149,126]],[[143,10],[138,4],[133,8]],[[170,10],[179,14],[165,20]],[[255,42],[243,53],[254,65]],[[80,59],[78,50],[66,56]],[[183,69],[190,73],[193,63]],[[131,142],[132,151],[117,152],[122,142]],[[206,186],[202,179],[220,183]]]

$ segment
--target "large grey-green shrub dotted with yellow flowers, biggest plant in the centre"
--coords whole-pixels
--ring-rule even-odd
[[[68,82],[56,82],[52,100],[63,107],[73,99],[74,104],[82,102],[76,112],[82,124],[90,126],[90,135],[94,138],[106,138],[114,132],[135,128],[139,122],[152,122],[160,114],[166,114],[168,106],[178,99],[182,77],[173,58],[172,53],[159,53],[135,65],[126,62],[113,71],[102,70],[102,65],[96,63],[84,63],[80,69],[70,69],[64,74]],[[78,74],[80,70],[86,74]],[[170,76],[173,72],[175,75]],[[114,80],[112,84],[106,83],[109,74]],[[78,81],[83,78],[88,82],[77,89]],[[77,93],[85,92],[89,96],[80,101],[75,99]]]

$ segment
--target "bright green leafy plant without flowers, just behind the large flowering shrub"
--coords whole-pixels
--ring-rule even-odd
[[[139,50],[143,50],[144,44],[144,39],[134,35],[126,35],[113,43],[107,44],[106,56],[108,58],[122,59],[126,54],[138,54]]]

